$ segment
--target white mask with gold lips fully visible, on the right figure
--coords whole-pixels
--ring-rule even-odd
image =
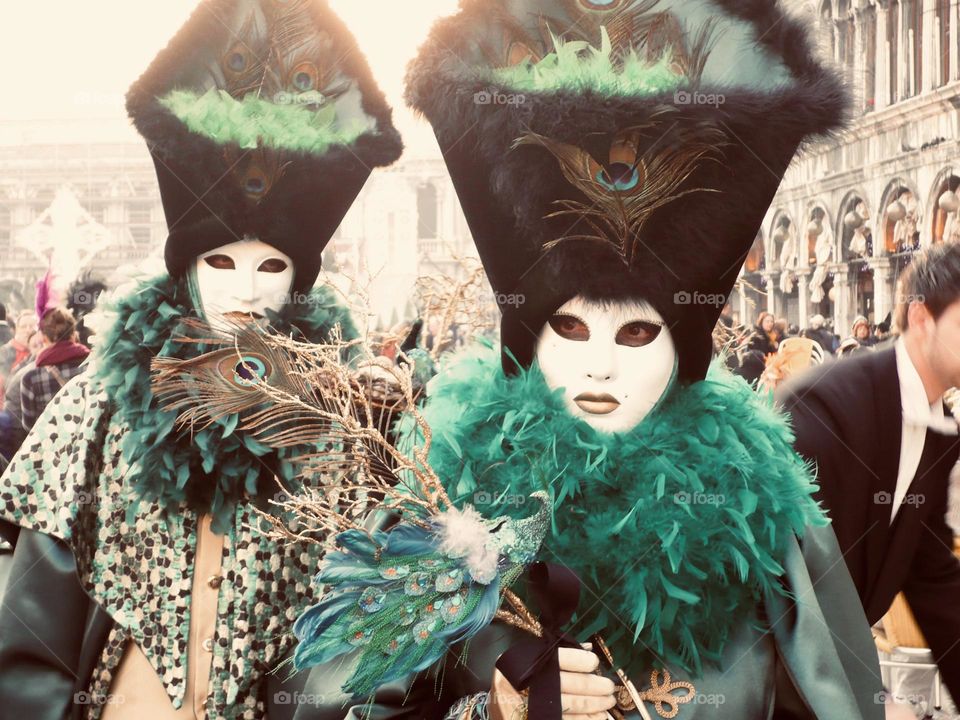
[[[666,392],[677,351],[661,315],[642,302],[577,296],[544,326],[537,362],[569,411],[601,432],[636,427]]]

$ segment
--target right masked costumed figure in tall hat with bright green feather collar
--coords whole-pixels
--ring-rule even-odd
[[[320,666],[312,717],[882,717],[810,469],[710,367],[721,304],[695,301],[727,296],[797,147],[841,124],[803,27],[766,0],[463,0],[408,77],[494,291],[524,298],[432,381],[431,466],[494,516],[546,491],[541,552],[580,603],[554,627],[575,593],[547,587],[540,640],[494,622],[372,699]]]

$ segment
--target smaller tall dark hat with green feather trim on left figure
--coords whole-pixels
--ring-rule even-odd
[[[181,275],[256,238],[289,255],[295,290],[374,167],[402,151],[391,110],[326,0],[203,0],[130,88]]]

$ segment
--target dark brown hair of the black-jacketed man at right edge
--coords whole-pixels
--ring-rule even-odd
[[[910,303],[922,302],[934,319],[960,300],[960,245],[934,245],[913,256],[897,283],[894,320],[899,331],[907,330]]]

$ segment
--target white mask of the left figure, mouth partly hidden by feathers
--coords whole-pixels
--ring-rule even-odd
[[[228,313],[266,316],[287,301],[293,261],[260,240],[221,245],[197,258],[197,288],[208,319]]]

